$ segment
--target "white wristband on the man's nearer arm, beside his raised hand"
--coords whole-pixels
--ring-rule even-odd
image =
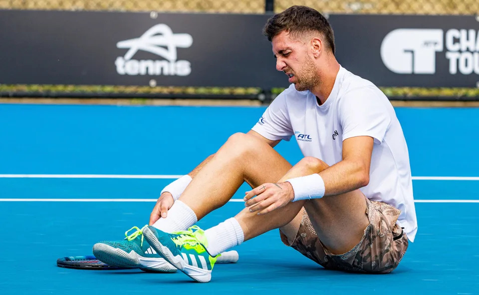
[[[324,181],[317,173],[291,178],[286,181],[293,187],[293,202],[298,200],[319,199],[324,196]]]

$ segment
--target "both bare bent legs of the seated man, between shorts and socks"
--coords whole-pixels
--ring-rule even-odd
[[[327,167],[323,161],[312,157],[306,157],[291,167],[261,139],[238,133],[231,136],[200,170],[180,200],[200,220],[226,204],[243,181],[254,188],[263,183],[318,173]],[[244,209],[236,216],[244,232],[244,240],[274,228],[281,228],[288,239],[293,240],[301,221],[297,215],[303,204],[318,237],[332,253],[342,254],[353,248],[369,224],[364,196],[355,190],[307,202],[297,201],[265,215],[256,215]]]

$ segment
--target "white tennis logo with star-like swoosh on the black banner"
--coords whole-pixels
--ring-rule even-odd
[[[116,58],[116,72],[120,75],[187,76],[191,73],[191,63],[188,60],[177,60],[176,49],[188,48],[192,43],[190,34],[174,34],[166,24],[154,25],[139,38],[116,43],[117,48],[128,48],[124,56]],[[132,59],[138,50],[164,59]]]

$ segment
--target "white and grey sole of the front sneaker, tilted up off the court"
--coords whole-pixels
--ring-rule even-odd
[[[211,271],[191,266],[186,263],[181,256],[174,256],[168,247],[161,245],[158,238],[148,227],[143,229],[143,236],[148,241],[148,244],[150,244],[161,257],[188,277],[199,283],[208,283],[211,281]]]

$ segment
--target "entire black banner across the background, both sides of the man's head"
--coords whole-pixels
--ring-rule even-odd
[[[0,83],[287,87],[269,15],[0,10]],[[341,65],[378,86],[476,87],[474,16],[330,15]]]

